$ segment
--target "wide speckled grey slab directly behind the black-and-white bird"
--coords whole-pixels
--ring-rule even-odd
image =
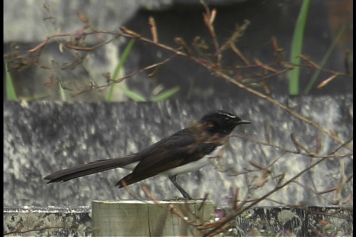
[[[353,136],[353,95],[280,97],[277,100],[327,129],[333,129],[344,141]],[[271,140],[279,146],[295,149],[290,139],[292,132],[298,141],[311,147],[315,147],[316,135],[320,134],[322,154],[339,146],[312,126],[257,98],[160,103],[4,102],[3,204],[82,206],[90,205],[93,199],[132,198],[124,189],[114,187],[115,182],[128,173],[121,169],[65,183],[46,184],[42,178],[76,164],[134,153],[215,109],[231,111],[252,121],[252,124],[236,128],[233,134],[266,141],[264,123],[267,122]],[[348,152],[341,149],[338,153]],[[266,185],[254,190],[249,198],[261,197],[271,190],[278,174],[285,173],[284,180],[287,180],[313,162],[310,157],[285,154],[272,147],[232,137],[230,148],[218,162],[219,167],[227,171],[220,172],[216,166],[208,165],[198,172],[178,176],[178,182],[193,197],[210,193],[210,199],[219,205],[229,196],[230,188],[239,188],[240,198],[245,198],[247,178],[233,175],[235,172],[254,168],[250,161],[267,166],[277,158],[270,168],[272,173]],[[352,157],[329,158],[302,175],[299,184],[291,184],[270,198],[286,204],[327,205],[333,201],[334,194],[318,196],[312,190],[330,189],[338,184],[342,174],[349,177],[352,173]],[[261,172],[251,173],[249,182],[253,182],[256,175],[260,176]],[[142,185],[158,199],[179,196],[164,176],[130,186],[137,197],[145,199]],[[352,185],[353,180],[343,187],[341,200],[352,194]],[[352,199],[350,201],[352,203]],[[266,200],[260,204],[275,203]]]

